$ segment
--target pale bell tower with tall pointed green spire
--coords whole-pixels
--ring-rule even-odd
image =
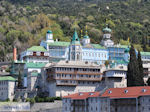
[[[82,46],[76,30],[74,31],[71,43],[69,45],[69,60],[81,61],[82,60]]]

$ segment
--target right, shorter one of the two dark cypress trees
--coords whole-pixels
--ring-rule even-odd
[[[136,80],[137,80],[137,86],[144,86],[144,80],[143,80],[143,77],[144,77],[144,70],[143,70],[143,63],[142,63],[142,60],[141,60],[141,53],[140,51],[138,51],[138,66],[139,66],[139,73],[138,73],[138,76],[136,77]]]

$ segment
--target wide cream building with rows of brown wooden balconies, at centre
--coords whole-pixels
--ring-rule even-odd
[[[83,61],[60,61],[43,68],[43,86],[49,96],[93,92],[101,88],[102,72],[97,64]]]

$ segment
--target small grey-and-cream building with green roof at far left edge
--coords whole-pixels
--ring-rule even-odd
[[[0,77],[0,100],[13,100],[15,95],[15,81],[11,76]]]

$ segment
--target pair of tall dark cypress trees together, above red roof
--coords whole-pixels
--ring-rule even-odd
[[[135,53],[133,45],[130,48],[130,62],[128,64],[127,71],[127,86],[143,86],[143,66],[141,61],[140,52],[138,53],[138,58]]]

